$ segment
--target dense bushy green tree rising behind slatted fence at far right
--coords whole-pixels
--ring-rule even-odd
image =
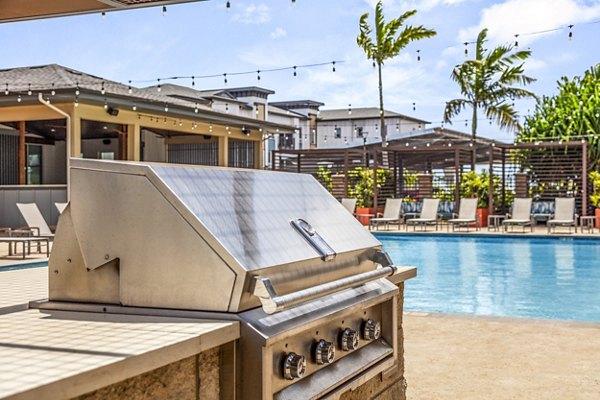
[[[557,85],[558,94],[544,96],[537,102],[517,141],[585,139],[591,168],[600,170],[600,64],[583,76],[563,76]]]

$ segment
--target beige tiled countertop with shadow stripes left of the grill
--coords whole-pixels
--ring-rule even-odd
[[[0,399],[78,396],[239,335],[235,321],[37,309],[0,315]]]

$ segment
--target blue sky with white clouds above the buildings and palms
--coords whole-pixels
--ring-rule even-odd
[[[257,85],[276,91],[271,101],[311,99],[326,108],[378,105],[377,73],[356,45],[358,19],[373,14],[374,0],[210,0],[160,8],[0,24],[0,67],[57,63],[136,86],[167,76],[254,71],[332,60],[331,65],[228,77],[228,87]],[[459,97],[450,80],[452,67],[465,59],[462,44],[483,27],[490,45],[512,43],[531,48],[530,89],[553,94],[561,76],[582,74],[600,62],[600,0],[420,0],[384,1],[387,16],[407,9],[438,35],[410,44],[384,66],[385,108],[440,124],[446,101]],[[598,21],[598,22],[597,22]],[[568,25],[573,39],[568,40]],[[531,32],[562,28],[545,34]],[[417,61],[420,50],[421,61]],[[472,51],[472,45],[469,51]],[[147,80],[143,83],[140,81]],[[190,85],[189,80],[174,83]],[[196,81],[196,88],[224,87],[222,78]],[[413,111],[413,103],[415,110]],[[532,101],[517,102],[522,115]],[[466,132],[468,115],[453,127]],[[512,141],[511,132],[480,121],[480,135]]]

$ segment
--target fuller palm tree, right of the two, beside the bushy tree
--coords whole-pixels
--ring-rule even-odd
[[[472,140],[477,137],[477,114],[481,109],[486,117],[495,121],[501,129],[520,130],[521,124],[513,104],[508,100],[536,96],[525,89],[512,85],[528,85],[535,81],[523,73],[524,61],[531,55],[530,50],[513,52],[512,45],[498,46],[491,51],[485,49],[487,29],[477,36],[475,58],[466,60],[454,67],[452,80],[458,83],[462,99],[446,103],[444,121],[452,123],[452,117],[470,107],[473,111],[471,122]],[[472,168],[475,164],[473,153]]]

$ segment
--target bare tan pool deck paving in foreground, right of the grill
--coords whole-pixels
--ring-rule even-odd
[[[407,313],[407,398],[600,399],[600,323]]]

